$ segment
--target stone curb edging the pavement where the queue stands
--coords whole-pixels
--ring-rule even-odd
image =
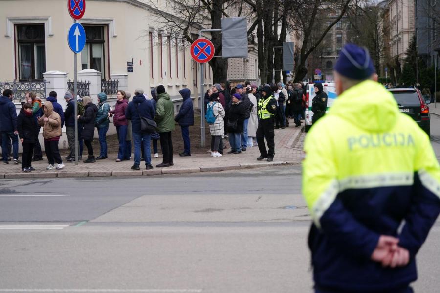
[[[228,170],[246,170],[264,168],[272,166],[293,166],[301,165],[300,161],[274,161],[274,162],[255,162],[243,163],[226,166],[195,167],[180,169],[154,169],[154,170],[120,170],[120,171],[58,171],[58,172],[35,172],[35,173],[0,173],[0,179],[22,179],[22,178],[77,178],[77,177],[139,177],[167,174],[189,174],[205,172],[222,172]]]

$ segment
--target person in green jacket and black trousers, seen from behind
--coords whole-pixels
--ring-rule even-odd
[[[173,166],[173,141],[171,140],[171,131],[174,126],[174,105],[171,97],[165,92],[165,87],[159,85],[156,88],[157,106],[156,106],[156,123],[157,132],[160,135],[160,145],[163,152],[162,163],[156,165],[157,168]]]

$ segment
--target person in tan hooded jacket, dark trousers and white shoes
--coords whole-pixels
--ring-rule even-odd
[[[43,116],[37,117],[38,124],[43,127],[44,149],[49,165],[47,170],[63,169],[64,163],[58,149],[61,135],[61,117],[53,110],[52,102],[46,101],[41,106]],[[55,166],[55,162],[57,165]]]

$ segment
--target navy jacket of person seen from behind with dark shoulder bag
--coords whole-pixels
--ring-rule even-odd
[[[154,116],[154,106],[143,94],[134,96],[125,111],[125,118],[132,121],[132,130],[135,133],[141,133],[140,117],[153,120]]]

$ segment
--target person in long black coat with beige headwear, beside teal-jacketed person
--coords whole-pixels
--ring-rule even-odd
[[[83,97],[84,114],[78,115],[78,122],[82,125],[81,139],[84,140],[84,144],[87,147],[88,158],[84,163],[94,163],[96,162],[95,156],[93,155],[93,135],[95,134],[95,118],[96,113],[98,113],[98,107],[92,103],[89,96]]]

